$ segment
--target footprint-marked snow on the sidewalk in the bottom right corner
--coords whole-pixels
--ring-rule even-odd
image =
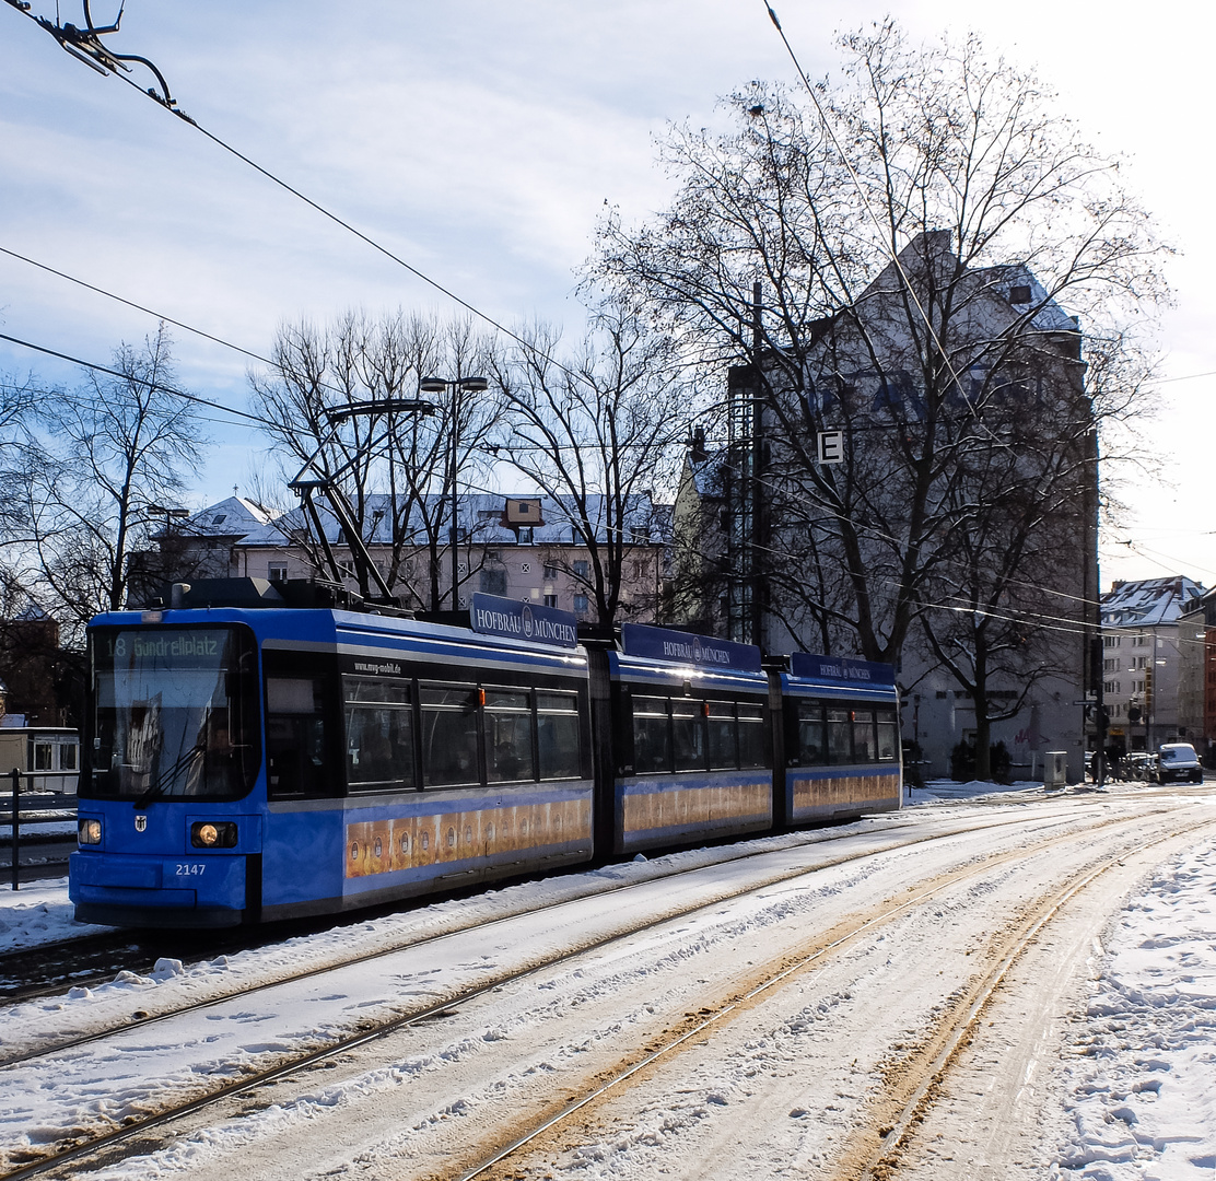
[[[1162,866],[1107,934],[1065,1048],[1053,1179],[1216,1177],[1216,843]]]

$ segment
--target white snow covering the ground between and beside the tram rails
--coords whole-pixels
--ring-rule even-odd
[[[838,854],[851,842],[877,845],[894,826],[910,820],[928,832],[967,816],[991,825],[1017,811],[1041,816],[1040,832],[1066,827],[1059,817],[1070,803],[1059,794],[1020,784],[993,800],[991,791],[990,784],[930,786],[914,793],[913,803],[922,806],[901,817],[732,848],[762,848],[772,864],[799,859],[810,864],[824,859],[827,849]],[[968,803],[973,797],[981,802]],[[1158,806],[1136,788],[1113,793],[1109,802],[1091,797],[1087,803],[1096,804],[1090,808],[1093,815],[1126,811],[1150,817]],[[721,912],[715,909],[680,921],[592,963],[554,972],[527,988],[497,990],[468,1016],[428,1025],[412,1034],[412,1041],[385,1048],[379,1059],[321,1075],[303,1093],[285,1096],[282,1103],[255,1114],[199,1124],[195,1135],[179,1137],[173,1148],[114,1165],[100,1176],[107,1181],[182,1174],[223,1179],[233,1171],[249,1177],[412,1176],[402,1165],[406,1160],[417,1162],[417,1175],[428,1169],[430,1175],[444,1175],[445,1154],[457,1153],[479,1119],[502,1119],[491,1113],[503,1106],[520,1113],[536,1109],[546,1089],[564,1085],[561,1080],[575,1087],[580,1070],[587,1073],[601,1058],[613,1059],[623,1047],[646,1044],[670,1024],[672,1014],[696,1012],[703,1000],[726,995],[732,982],[760,971],[762,961],[796,950],[812,923],[827,924],[833,913],[876,905],[902,874],[912,881],[913,873],[951,865],[983,865],[1003,848],[1001,831],[978,829],[947,842],[923,865],[916,864],[921,854],[905,850],[883,854],[863,870],[858,864],[828,867],[795,885],[766,888],[744,905],[724,904]],[[103,1024],[117,1011],[156,1008],[165,999],[221,986],[233,975],[246,982],[271,978],[292,966],[332,960],[353,944],[372,951],[411,932],[440,933],[546,899],[593,895],[623,881],[641,884],[668,866],[700,866],[704,872],[693,879],[696,884],[679,889],[711,892],[754,872],[749,862],[715,864],[730,855],[731,849],[692,850],[652,862],[640,859],[490,890],[475,899],[418,906],[185,969],[165,961],[152,977],[128,973],[91,991],[0,1012],[0,1045],[28,1042],[39,1029],[50,1031],[56,1024]],[[862,940],[838,967],[812,973],[789,990],[784,1007],[770,1006],[771,1011],[728,1023],[733,1028],[727,1031],[698,1036],[674,1073],[669,1070],[658,1090],[640,1101],[641,1107],[626,1108],[619,1121],[604,1125],[607,1135],[604,1126],[590,1127],[529,1175],[550,1171],[589,1181],[652,1176],[660,1169],[679,1176],[758,1181],[820,1175],[834,1148],[856,1132],[876,1086],[880,1050],[890,1045],[876,1033],[883,1007],[889,1011],[900,1003],[894,1024],[906,1027],[900,1036],[913,1045],[935,1001],[966,977],[972,962],[966,957],[990,934],[993,915],[1055,868],[1051,856],[1040,856],[1037,866],[993,870],[981,887],[944,896],[934,911],[908,921],[906,930],[893,928]],[[1019,1176],[1211,1181],[1216,1175],[1211,901],[1216,840],[1195,844],[1142,887],[1109,927],[1108,958],[1094,958],[1088,1010],[1060,1025],[1051,1050],[1055,1064],[1051,1087],[1038,1096],[1058,1119],[1043,1121],[1029,1174],[1024,1169]],[[64,893],[62,882],[5,893],[0,940],[12,946],[64,938],[73,929]],[[670,901],[672,888],[659,884],[655,893]],[[590,924],[624,917],[619,902],[606,906],[595,898],[581,913],[572,921]],[[64,1118],[68,1125],[75,1120],[85,1126],[97,1119],[122,1119],[140,1106],[145,1069],[159,1072],[168,1086],[188,1086],[192,1078],[232,1072],[260,1053],[314,1040],[351,1014],[400,1005],[411,992],[441,995],[441,985],[502,966],[529,944],[535,950],[576,934],[556,922],[520,924],[510,939],[492,944],[457,940],[446,958],[428,952],[423,962],[377,961],[379,967],[350,972],[323,988],[304,986],[291,997],[276,990],[268,994],[275,997],[269,1005],[258,997],[232,1002],[208,1017],[195,1017],[171,1039],[131,1030],[123,1048],[92,1058],[73,1056],[58,1073],[10,1068],[0,1073],[0,1149],[7,1154],[29,1142],[30,1131],[34,1141],[54,1140]],[[940,980],[933,977],[935,956],[941,958],[939,974],[946,973]],[[901,983],[893,989],[893,980]],[[765,1146],[741,1149],[741,1127],[758,1120],[765,1125]],[[942,1127],[948,1137],[950,1121],[939,1124],[938,1135]],[[952,1175],[1001,1174],[970,1174],[964,1165]]]

